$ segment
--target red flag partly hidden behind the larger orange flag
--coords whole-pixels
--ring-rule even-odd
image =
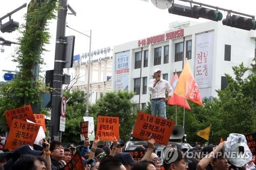
[[[177,82],[178,82],[178,79],[179,78],[178,78],[177,72],[175,72],[173,81],[170,84],[173,87],[173,89],[175,89],[175,87],[177,85]],[[182,96],[177,95],[176,93],[174,93],[174,95],[168,100],[167,104],[169,104],[169,105],[177,105],[177,106],[184,107],[187,110],[191,110],[189,105],[188,105],[188,103],[187,103],[187,100],[184,99]]]

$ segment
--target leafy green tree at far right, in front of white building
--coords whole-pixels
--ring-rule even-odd
[[[225,90],[217,90],[223,108],[223,136],[253,133],[256,129],[256,75],[245,77],[248,68],[243,63],[232,69],[235,78],[225,74],[228,85]]]

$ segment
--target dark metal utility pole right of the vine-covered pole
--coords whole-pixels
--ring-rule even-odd
[[[52,132],[51,138],[59,140],[59,119],[60,119],[60,104],[62,99],[62,76],[63,64],[65,64],[65,47],[66,47],[66,17],[67,17],[67,0],[60,1],[60,9],[58,11],[57,31],[56,31],[56,46],[53,72],[53,91],[52,91],[52,111],[51,124]]]

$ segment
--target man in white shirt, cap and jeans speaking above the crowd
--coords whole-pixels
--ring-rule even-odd
[[[173,88],[170,84],[161,79],[161,72],[159,68],[156,68],[153,72],[155,79],[151,79],[148,83],[148,89],[152,92],[151,95],[151,114],[154,116],[160,116],[166,118],[166,105],[165,101],[173,95]],[[165,92],[168,91],[168,98],[165,98]]]

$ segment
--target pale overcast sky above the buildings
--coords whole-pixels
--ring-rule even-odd
[[[196,2],[218,6],[221,8],[238,11],[250,15],[255,15],[255,0],[197,0]],[[22,6],[26,0],[1,0],[0,17],[8,12]],[[84,34],[90,35],[88,30],[92,29],[92,50],[98,50],[108,46],[139,40],[148,36],[157,35],[168,30],[170,22],[174,21],[199,21],[206,22],[207,19],[193,19],[174,14],[169,14],[168,10],[156,8],[151,1],[148,3],[142,0],[70,0],[70,6],[77,15],[68,15],[67,23]],[[175,0],[175,3],[189,5]],[[70,12],[70,11],[69,11]],[[12,19],[24,23],[26,9],[22,9],[12,15]],[[223,12],[223,18],[226,12]],[[5,23],[7,18],[2,21]],[[50,24],[52,35],[51,44],[47,45],[48,53],[44,54],[47,65],[43,70],[53,69],[54,51],[56,39],[56,20]],[[74,55],[89,52],[89,38],[66,28],[66,35],[75,35]],[[18,32],[2,33],[0,36],[6,40],[16,41]],[[0,53],[0,81],[3,81],[3,69],[15,70],[15,64],[11,61],[16,45],[4,46],[5,52]]]

